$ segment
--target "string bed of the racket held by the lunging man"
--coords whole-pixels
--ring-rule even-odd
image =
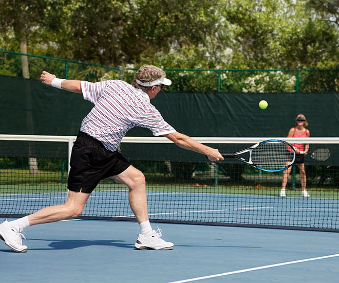
[[[266,170],[283,169],[293,163],[294,151],[285,143],[263,143],[252,150],[251,161]]]

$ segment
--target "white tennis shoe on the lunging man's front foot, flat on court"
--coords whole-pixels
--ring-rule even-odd
[[[159,228],[157,231],[153,230],[150,237],[139,234],[134,246],[137,250],[173,250],[174,243],[164,241],[161,236],[161,229]]]

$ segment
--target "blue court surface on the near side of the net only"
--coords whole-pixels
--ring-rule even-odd
[[[0,219],[3,221],[4,219]],[[138,251],[136,222],[73,220],[24,231],[27,253],[0,242],[3,282],[337,282],[337,233],[152,223],[173,251]]]

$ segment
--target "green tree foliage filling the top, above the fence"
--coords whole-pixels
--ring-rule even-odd
[[[336,0],[0,0],[0,48],[111,66],[336,68]]]

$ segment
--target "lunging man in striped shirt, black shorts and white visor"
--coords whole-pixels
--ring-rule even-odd
[[[140,225],[135,247],[138,250],[172,250],[174,244],[161,239],[148,220],[145,177],[117,151],[121,139],[133,127],[148,128],[155,136],[163,135],[176,145],[208,156],[210,161],[223,160],[217,149],[202,145],[177,132],[150,103],[164,85],[171,85],[165,72],[143,65],[132,84],[121,80],[91,83],[58,79],[48,72],[41,74],[44,84],[73,93],[82,93],[94,104],[83,119],[71,153],[68,197],[65,204],[45,207],[23,218],[0,224],[0,238],[15,252],[26,252],[22,231],[31,225],[78,217],[98,183],[112,178],[128,186],[129,204]]]

